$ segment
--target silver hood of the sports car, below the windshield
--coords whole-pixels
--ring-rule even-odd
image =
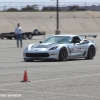
[[[54,46],[58,46],[58,43],[40,43],[40,44],[35,44],[31,46],[32,48],[50,48],[50,47],[54,47]]]

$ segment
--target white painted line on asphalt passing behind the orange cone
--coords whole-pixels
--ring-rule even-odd
[[[64,80],[64,79],[73,79],[73,78],[82,78],[82,77],[91,77],[91,76],[100,76],[100,74],[91,74],[91,75],[82,75],[82,76],[74,76],[74,77],[64,77],[64,78],[55,78],[55,79],[45,79],[45,80],[37,80],[37,81],[30,81],[28,83],[33,83],[33,82],[45,82],[45,81],[56,81],[56,80]],[[2,84],[1,86],[7,86],[7,85],[17,85],[17,84],[23,84],[23,82],[20,83],[12,83],[12,84]]]

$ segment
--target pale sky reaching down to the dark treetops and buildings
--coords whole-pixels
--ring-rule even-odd
[[[57,0],[0,0],[0,10],[6,10],[8,8],[21,9],[27,5],[38,5],[39,9],[44,6],[56,6]],[[100,5],[100,0],[58,0],[60,6],[69,5]]]

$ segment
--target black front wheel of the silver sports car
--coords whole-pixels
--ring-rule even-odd
[[[65,47],[61,48],[61,50],[59,52],[59,60],[65,61],[65,60],[67,60],[67,57],[68,57],[67,49]]]

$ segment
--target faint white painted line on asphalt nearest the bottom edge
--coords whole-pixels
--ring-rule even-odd
[[[26,92],[26,93],[39,93],[39,94],[49,94],[49,95],[65,95],[70,97],[85,97],[85,98],[98,98],[98,96],[80,95],[80,94],[65,94],[65,93],[55,93],[55,92],[37,92],[37,91],[26,91],[26,90],[11,90],[11,89],[0,89],[1,91],[13,91],[13,92]]]

